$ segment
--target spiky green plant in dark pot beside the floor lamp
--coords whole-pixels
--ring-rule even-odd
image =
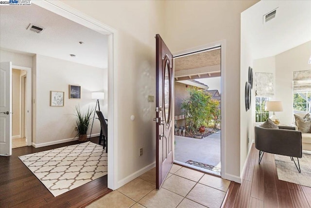
[[[93,109],[90,109],[88,107],[86,113],[81,113],[80,106],[76,106],[76,125],[77,125],[77,131],[79,135],[79,141],[85,142],[87,140],[87,130],[89,126],[89,121],[91,119],[91,114],[93,112]]]

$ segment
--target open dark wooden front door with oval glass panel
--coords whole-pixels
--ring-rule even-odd
[[[173,164],[173,55],[160,35],[156,39],[156,189]]]

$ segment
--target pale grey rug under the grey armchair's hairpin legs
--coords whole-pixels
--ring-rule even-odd
[[[289,156],[275,154],[274,157],[279,180],[311,187],[311,151],[302,151],[302,158],[299,158],[301,173]],[[297,158],[294,160],[297,164]]]

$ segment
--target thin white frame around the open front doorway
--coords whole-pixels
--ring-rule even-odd
[[[201,50],[208,50],[210,48],[214,47],[221,47],[221,153],[220,153],[220,160],[221,160],[221,177],[226,177],[226,170],[225,170],[225,164],[226,164],[226,154],[225,154],[225,142],[226,142],[226,134],[225,134],[225,40],[216,41],[213,43],[208,43],[205,45],[193,47],[190,49],[182,50],[173,53],[173,57],[178,57],[182,55],[186,55],[189,53],[194,53]],[[173,97],[174,98],[174,97]],[[173,110],[174,113],[174,110]],[[173,115],[174,116],[174,115]]]

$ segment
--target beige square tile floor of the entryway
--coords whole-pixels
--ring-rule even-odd
[[[155,189],[155,168],[114,190],[88,208],[219,208],[230,181],[173,164]]]

